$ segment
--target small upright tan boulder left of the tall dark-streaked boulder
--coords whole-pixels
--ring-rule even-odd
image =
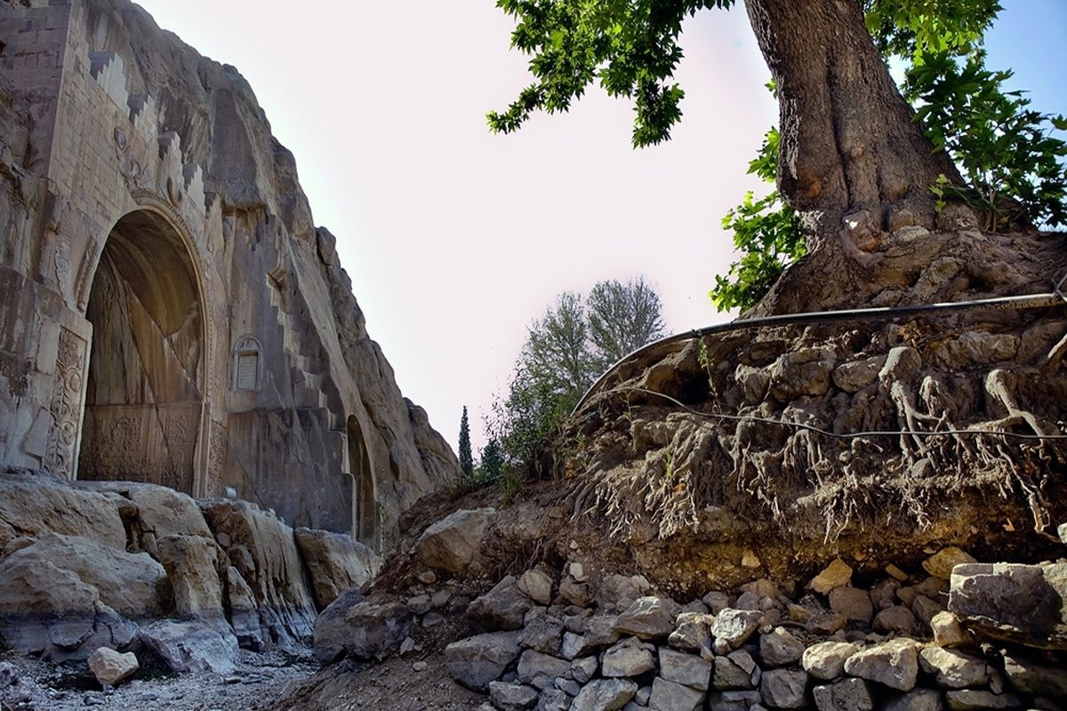
[[[178,616],[182,619],[222,619],[219,567],[225,553],[214,539],[168,534],[156,538],[156,551],[171,581],[174,611]]]

